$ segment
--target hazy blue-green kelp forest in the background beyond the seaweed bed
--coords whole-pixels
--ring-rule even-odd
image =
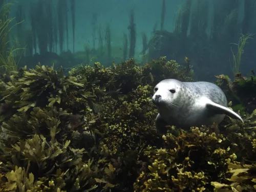
[[[5,37],[8,41],[6,46],[12,51],[15,48],[16,62],[20,66],[26,64],[29,67],[38,62],[47,65],[54,63],[55,66],[65,68],[93,62],[111,66],[113,61],[118,63],[133,58],[136,51],[140,54],[136,61],[141,65],[163,55],[167,59],[184,63],[183,58],[186,56],[198,74],[197,78],[207,80],[220,72],[235,74],[241,63],[243,72],[252,70],[252,50],[256,45],[253,38],[256,29],[254,4],[253,0],[245,1],[243,17],[239,19],[241,2],[238,0],[186,0],[173,13],[173,31],[166,31],[164,26],[168,23],[165,13],[168,10],[163,0],[159,7],[159,22],[152,26],[151,36],[146,36],[143,31],[136,32],[136,12],[133,7],[127,15],[130,23],[127,23],[123,44],[119,47],[111,45],[111,30],[115,26],[98,23],[98,13],[93,13],[91,26],[88,26],[92,30],[92,45],[84,42],[84,50],[75,52],[75,1],[33,1],[28,11],[22,4],[16,5],[15,17],[8,18],[5,25],[9,28],[15,25],[15,28],[8,35],[12,41]],[[6,5],[5,9],[9,9],[7,6],[11,5]],[[4,13],[3,8],[3,14],[8,17],[8,10]],[[72,34],[73,40],[69,39],[69,34]],[[138,38],[142,39],[142,50],[136,50]]]

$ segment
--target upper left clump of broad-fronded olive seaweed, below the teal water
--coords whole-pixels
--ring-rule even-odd
[[[76,77],[63,74],[63,70],[55,71],[52,67],[41,66],[35,69],[21,69],[11,81],[1,84],[0,93],[5,108],[1,113],[1,121],[15,111],[28,111],[34,106],[61,106],[78,113],[86,110],[86,103],[95,99],[101,92],[87,79],[77,80]],[[10,109],[8,108],[10,106]],[[5,112],[8,113],[5,113]],[[11,113],[13,112],[13,113]]]

